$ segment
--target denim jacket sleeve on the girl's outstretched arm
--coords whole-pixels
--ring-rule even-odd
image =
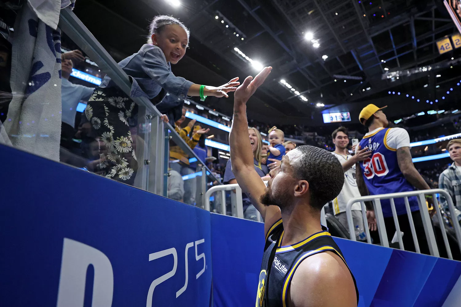
[[[170,65],[166,63],[165,55],[157,46],[144,50],[142,55],[142,70],[152,80],[157,82],[165,90],[179,98],[185,98],[189,87],[194,84],[183,77],[173,75]]]

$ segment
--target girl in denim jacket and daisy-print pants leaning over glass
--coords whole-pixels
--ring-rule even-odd
[[[149,29],[148,44],[118,63],[130,76],[130,96],[106,75],[85,110],[91,123],[88,136],[98,143],[99,148],[99,163],[93,171],[130,185],[134,183],[138,167],[136,144],[133,144],[131,135],[136,133],[137,105],[130,97],[147,97],[153,104],[159,103],[167,92],[181,101],[186,96],[227,98],[227,93],[235,91],[240,84],[236,77],[219,87],[204,86],[173,75],[171,64],[183,58],[189,30],[170,16],[155,17]]]

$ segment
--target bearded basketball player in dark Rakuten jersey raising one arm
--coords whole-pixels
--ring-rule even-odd
[[[269,172],[267,187],[254,170],[246,102],[271,69],[237,88],[229,137],[232,172],[265,220],[256,307],[356,307],[354,276],[319,222],[323,205],[343,187],[341,163],[328,151],[299,146]]]

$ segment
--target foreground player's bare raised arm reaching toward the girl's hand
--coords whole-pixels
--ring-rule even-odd
[[[234,94],[234,116],[232,120],[231,133],[229,135],[229,144],[231,145],[231,163],[232,173],[242,188],[246,192],[254,207],[260,212],[265,224],[274,223],[275,214],[267,214],[267,208],[263,206],[259,199],[264,193],[266,185],[260,176],[254,170],[253,151],[251,150],[248,139],[248,121],[247,121],[247,101],[256,91],[256,89],[266,80],[271,72],[272,67],[266,67],[256,76],[248,76],[242,85],[237,88]],[[272,207],[272,206],[271,206]],[[274,206],[275,207],[275,206]],[[275,207],[275,209],[278,209]],[[277,210],[269,210],[276,212]],[[278,210],[278,219],[280,210]],[[271,225],[272,225],[271,224]]]

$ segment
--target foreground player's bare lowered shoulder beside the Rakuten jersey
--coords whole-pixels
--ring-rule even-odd
[[[290,307],[357,307],[349,269],[331,252],[312,255],[301,262],[285,300]]]

